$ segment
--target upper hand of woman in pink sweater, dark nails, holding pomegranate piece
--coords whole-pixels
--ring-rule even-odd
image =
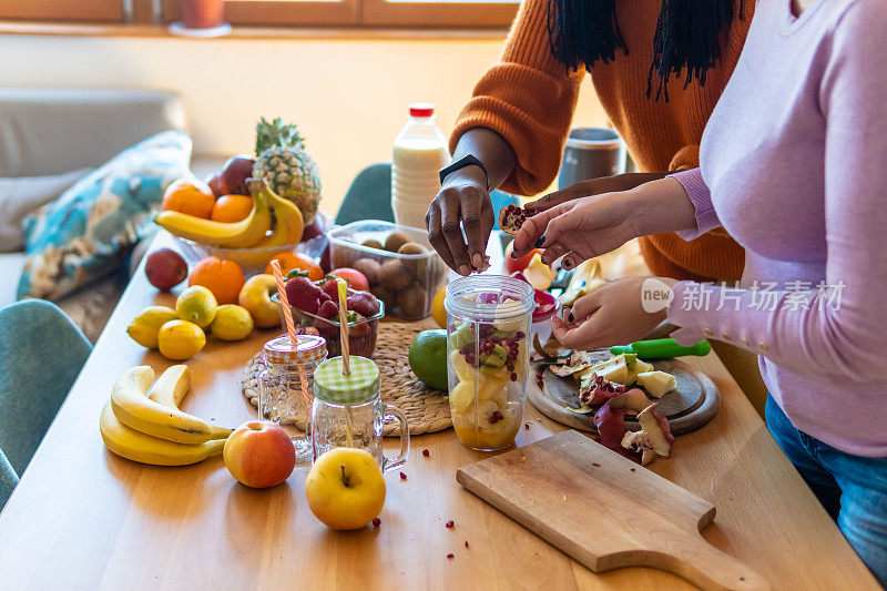
[[[542,262],[572,268],[582,261],[614,251],[638,237],[634,193],[605,193],[568,201],[533,215],[514,236],[514,256],[543,248]]]

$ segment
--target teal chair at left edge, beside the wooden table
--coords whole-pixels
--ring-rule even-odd
[[[0,309],[0,506],[24,471],[92,345],[55,305]]]

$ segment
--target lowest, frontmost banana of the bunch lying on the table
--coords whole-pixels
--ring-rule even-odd
[[[102,440],[105,447],[118,456],[156,466],[196,463],[218,454],[225,447],[224,439],[190,446],[157,439],[135,429],[130,429],[114,416],[110,401],[105,403],[104,408],[102,408],[99,429],[102,432]]]

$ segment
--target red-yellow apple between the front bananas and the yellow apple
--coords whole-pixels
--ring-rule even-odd
[[[234,429],[222,456],[231,476],[252,488],[279,485],[296,467],[296,450],[289,436],[279,425],[262,420]]]

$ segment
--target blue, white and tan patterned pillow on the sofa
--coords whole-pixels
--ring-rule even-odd
[[[187,134],[159,133],[26,217],[17,296],[58,299],[119,269],[151,227],[166,186],[188,174],[190,160]]]

